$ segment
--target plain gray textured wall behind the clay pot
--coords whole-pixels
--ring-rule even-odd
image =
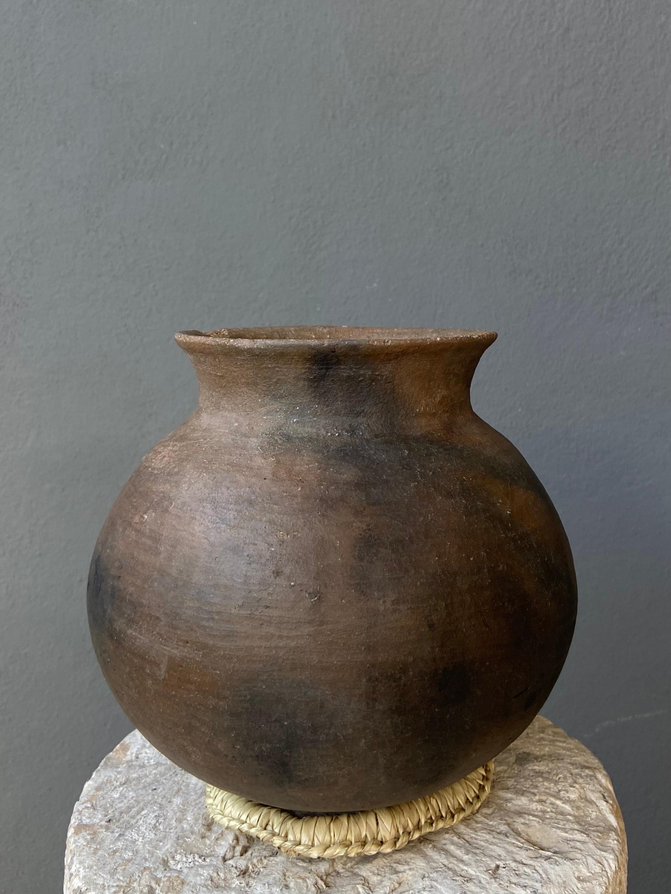
[[[632,894],[664,890],[667,0],[0,13],[2,890],[56,894],[129,730],[84,585],[196,400],[174,331],[297,322],[499,331],[473,402],[556,502],[582,596],[545,712],[615,781]]]

